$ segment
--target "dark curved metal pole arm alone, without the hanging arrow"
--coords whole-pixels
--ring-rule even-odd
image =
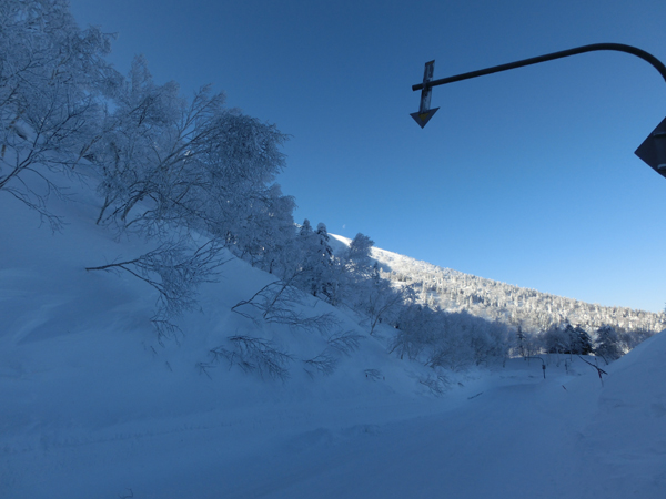
[[[664,78],[666,81],[666,65],[653,54],[646,52],[645,50],[637,49],[636,47],[625,45],[622,43],[594,43],[592,45],[583,45],[576,49],[563,50],[559,52],[549,53],[546,55],[539,55],[537,58],[524,59],[522,61],[509,62],[508,64],[494,65],[493,68],[486,68],[478,71],[471,71],[468,73],[457,74],[455,77],[442,78],[440,80],[433,80],[427,84],[427,88],[444,85],[446,83],[453,83],[456,81],[468,80],[471,78],[484,77],[486,74],[498,73],[501,71],[507,71],[515,68],[522,68],[524,65],[537,64],[539,62],[553,61],[555,59],[568,58],[569,55],[576,55],[585,52],[594,52],[597,50],[614,50],[617,52],[626,52],[633,55],[639,57],[644,61],[649,62]],[[412,90],[423,90],[424,83],[418,83],[416,85],[412,85]]]

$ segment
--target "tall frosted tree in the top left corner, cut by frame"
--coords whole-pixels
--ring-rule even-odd
[[[62,0],[0,2],[0,192],[36,210],[63,195],[56,174],[77,164],[103,130],[101,96],[119,82],[104,55],[110,37],[81,30]]]

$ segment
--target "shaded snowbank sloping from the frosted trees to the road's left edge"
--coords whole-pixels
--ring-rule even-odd
[[[11,214],[0,221],[0,497],[115,498],[125,487],[135,497],[191,497],[153,487],[180,472],[179,487],[189,490],[194,468],[204,466],[192,461],[201,451],[211,464],[261,455],[285,431],[343,418],[341,404],[359,413],[344,416],[345,424],[363,424],[375,405],[395,406],[375,422],[433,410],[408,403],[427,391],[417,381],[424,368],[405,370],[381,339],[314,297],[301,306],[304,314],[332,312],[339,329],[360,338],[351,355],[330,354],[339,361],[333,376],[305,363],[330,348],[326,336],[256,325],[231,312],[273,281],[231,255],[220,282],[202,289],[201,309],[183,318],[183,333],[161,346],[150,322],[151,286],[84,271],[141,251],[94,224],[97,203],[94,196],[57,203],[67,225],[52,234],[33,212],[0,197],[0,210]],[[234,335],[287,352],[289,377],[246,374],[210,354],[232,349]],[[148,447],[139,444],[135,454],[138,442]]]

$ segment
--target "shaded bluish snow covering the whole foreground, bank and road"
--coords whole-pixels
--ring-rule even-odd
[[[386,353],[390,328],[370,337],[312,298],[305,313],[364,340],[311,378],[299,359],[325,346],[317,333],[230,310],[269,274],[226,263],[160,346],[152,289],[84,271],[143,245],[95,226],[92,195],[52,207],[60,234],[0,195],[0,498],[666,497],[664,333],[599,365],[603,385],[578,358],[544,356],[545,379],[541,361],[509,359],[451,373],[437,397],[418,383],[428,369]],[[234,334],[286,348],[291,378],[212,364]]]

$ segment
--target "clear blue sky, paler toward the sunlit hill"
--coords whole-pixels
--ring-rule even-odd
[[[482,277],[662,310],[666,179],[635,149],[666,116],[645,61],[594,52],[434,89],[411,85],[577,45],[666,62],[664,0],[72,0],[185,94],[292,135],[279,179],[297,222]]]

